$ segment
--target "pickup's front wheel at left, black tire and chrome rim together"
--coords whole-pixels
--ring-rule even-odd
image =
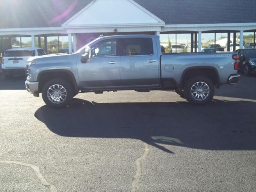
[[[60,108],[72,100],[74,91],[69,82],[61,78],[47,81],[42,88],[42,98],[46,105]]]

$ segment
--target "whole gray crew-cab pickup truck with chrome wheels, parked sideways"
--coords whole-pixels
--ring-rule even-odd
[[[82,92],[175,90],[206,104],[214,88],[236,84],[238,55],[232,52],[161,54],[159,36],[100,36],[73,54],[27,61],[28,92],[47,105],[63,107]]]

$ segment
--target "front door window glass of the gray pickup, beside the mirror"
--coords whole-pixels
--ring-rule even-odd
[[[104,40],[92,46],[91,56],[116,56],[116,39]]]

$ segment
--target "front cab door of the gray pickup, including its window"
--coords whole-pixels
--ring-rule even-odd
[[[82,63],[78,58],[78,77],[82,90],[103,89],[118,85],[120,81],[120,56],[117,39],[102,40],[90,47],[90,58]]]

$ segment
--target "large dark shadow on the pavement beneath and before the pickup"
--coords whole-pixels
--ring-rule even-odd
[[[255,150],[256,103],[96,103],[73,99],[67,108],[42,106],[34,116],[66,137],[131,138],[165,152],[171,146],[205,150]]]

